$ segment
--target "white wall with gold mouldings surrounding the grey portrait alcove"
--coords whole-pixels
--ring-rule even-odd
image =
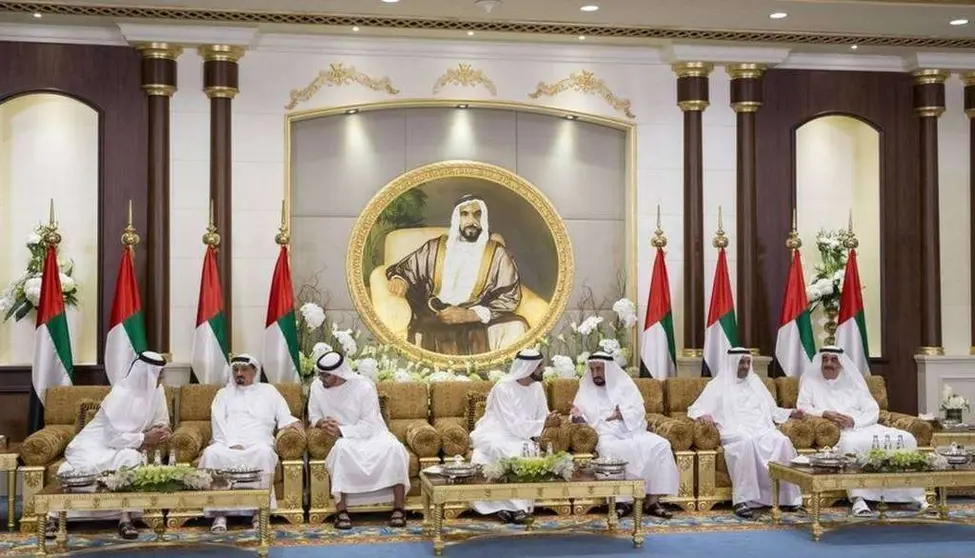
[[[302,50],[303,49],[303,50]],[[483,87],[448,86],[440,98],[537,102],[568,110],[622,117],[598,95],[575,91],[531,101],[540,81],[553,83],[573,72],[591,70],[619,97],[632,101],[637,124],[637,238],[639,265],[636,292],[640,316],[645,312],[652,253],[649,239],[661,205],[663,227],[670,239],[668,266],[676,316],[677,344],[682,345],[683,186],[682,114],[677,107],[676,79],[670,65],[653,49],[599,48],[576,45],[489,44],[461,41],[363,41],[265,36],[240,62],[240,94],[233,103],[234,151],[234,339],[235,351],[260,351],[271,270],[273,242],[284,194],[284,105],[292,89],[305,87],[330,64],[343,63],[371,77],[389,77],[400,94],[390,96],[359,85],[323,87],[297,110],[354,105],[373,101],[433,97],[437,78],[458,63],[484,72],[497,87],[497,97]],[[179,59],[179,92],[173,98],[172,172],[172,352],[189,359],[206,225],[209,117],[202,93],[202,61],[192,52]],[[711,107],[704,114],[705,232],[714,232],[718,206],[724,227],[735,230],[735,117],[729,107],[728,76],[716,68],[711,79]],[[327,177],[326,177],[327,178]],[[706,284],[710,290],[716,255],[705,247]],[[729,249],[735,282],[734,242]],[[345,254],[336,254],[339,262]],[[345,284],[326,285],[332,290]],[[297,286],[296,286],[297,288]],[[705,294],[705,300],[710,291]]]

